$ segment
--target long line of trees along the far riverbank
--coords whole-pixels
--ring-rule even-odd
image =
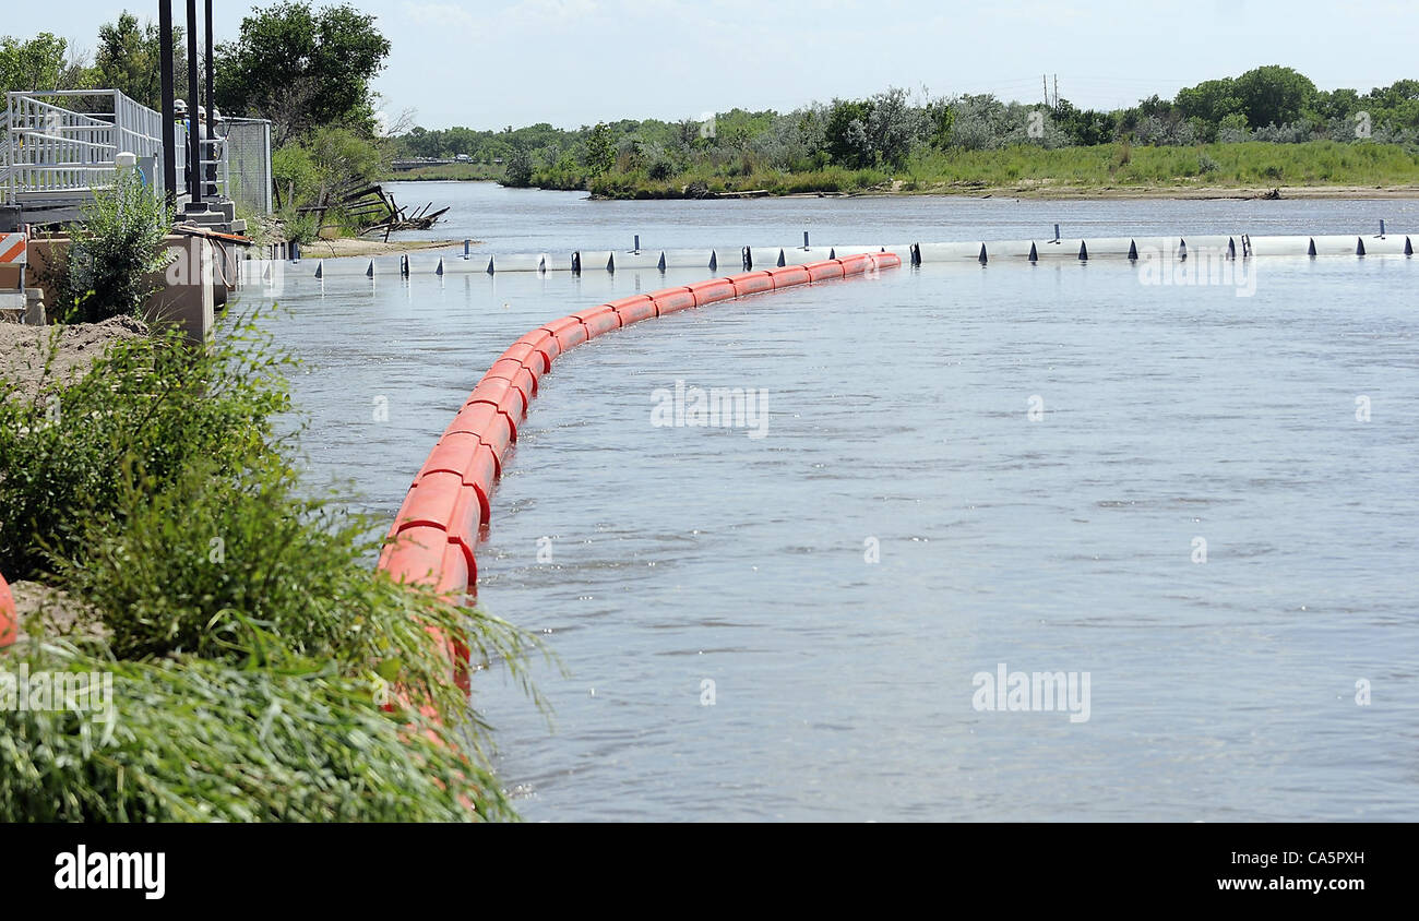
[[[508,184],[576,189],[616,176],[664,180],[704,169],[725,176],[824,167],[890,170],[929,152],[1015,145],[1053,149],[1321,139],[1398,143],[1419,152],[1419,81],[1399,79],[1364,94],[1323,91],[1290,67],[1266,65],[1183,88],[1171,99],[1152,95],[1107,112],[1081,109],[1069,99],[1042,105],[891,88],[786,114],[731,109],[707,122],[626,119],[569,131],[548,123],[502,131],[414,128],[397,138],[397,145],[407,158],[501,159]]]

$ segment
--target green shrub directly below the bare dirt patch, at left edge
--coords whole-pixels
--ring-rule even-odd
[[[200,352],[176,331],[119,342],[77,383],[0,399],[0,572],[34,578],[45,551],[82,561],[85,524],[118,512],[125,468],[162,491],[199,463],[270,463],[291,363],[253,318]]]

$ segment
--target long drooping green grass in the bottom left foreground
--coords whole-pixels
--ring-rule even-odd
[[[380,711],[331,663],[123,661],[55,643],[0,656],[20,663],[108,671],[114,708],[0,711],[0,822],[515,819],[457,732]]]

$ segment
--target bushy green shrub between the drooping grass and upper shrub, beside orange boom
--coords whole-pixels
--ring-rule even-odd
[[[204,460],[165,487],[132,480],[109,518],[89,518],[58,582],[92,605],[119,658],[194,654],[265,664],[278,643],[383,675],[461,721],[461,693],[426,627],[518,673],[525,641],[507,623],[397,585],[370,568],[375,522],[299,492],[278,460],[226,471]]]

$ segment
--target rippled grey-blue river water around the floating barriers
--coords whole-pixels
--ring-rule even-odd
[[[394,194],[499,253],[1419,230],[1416,202]],[[535,668],[555,731],[475,678],[524,816],[1419,819],[1419,267],[1253,265],[904,267],[561,358],[478,556],[569,673]],[[700,277],[288,272],[314,473],[392,517],[512,339]],[[677,382],[762,412],[677,426]],[[1000,671],[1074,695],[1022,708]]]

